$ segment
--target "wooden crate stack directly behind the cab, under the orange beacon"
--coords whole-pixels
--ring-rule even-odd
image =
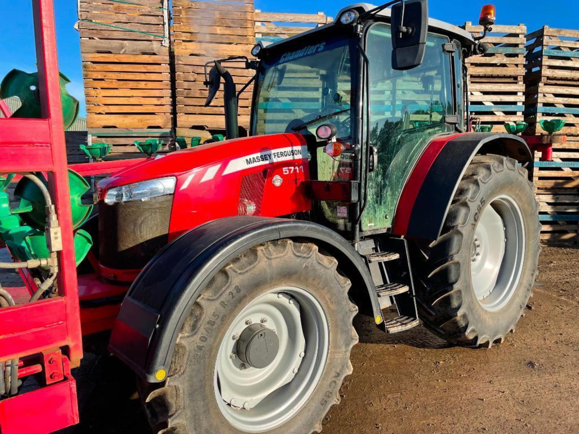
[[[464,28],[482,35],[480,25],[467,22]],[[524,24],[493,25],[482,39],[489,51],[467,59],[471,116],[497,133],[505,132],[505,122],[523,120],[526,31]]]

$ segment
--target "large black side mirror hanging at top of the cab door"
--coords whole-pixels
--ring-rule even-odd
[[[424,59],[428,35],[428,1],[408,0],[392,6],[392,68],[412,69]]]

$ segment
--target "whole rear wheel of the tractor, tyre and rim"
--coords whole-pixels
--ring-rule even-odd
[[[527,171],[502,156],[476,156],[441,236],[415,245],[420,318],[453,343],[476,346],[514,332],[533,293],[540,223]]]

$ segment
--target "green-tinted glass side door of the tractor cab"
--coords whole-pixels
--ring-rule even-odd
[[[362,231],[392,225],[402,187],[424,148],[434,135],[455,130],[446,122],[457,114],[446,43],[446,36],[428,34],[422,64],[395,71],[390,25],[376,23],[367,32],[370,144],[378,149],[378,165],[368,174]]]

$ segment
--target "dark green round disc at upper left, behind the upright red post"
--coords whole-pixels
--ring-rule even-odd
[[[60,73],[60,99],[63,104],[64,129],[70,127],[78,116],[79,102],[66,90],[71,80]],[[18,97],[22,105],[12,117],[41,117],[40,92],[38,90],[38,72],[24,72],[12,69],[0,83],[0,98]]]

